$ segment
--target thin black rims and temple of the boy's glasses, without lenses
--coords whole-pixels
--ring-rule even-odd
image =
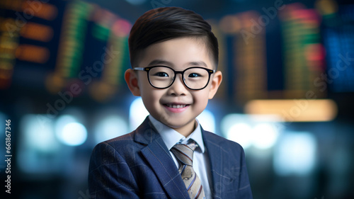
[[[156,67],[165,67],[165,68],[169,68],[169,69],[171,69],[171,70],[173,71],[173,73],[174,73],[173,80],[171,81],[171,84],[170,84],[169,86],[166,86],[166,87],[164,87],[164,88],[160,88],[160,87],[156,87],[156,86],[154,86],[154,85],[152,84],[152,82],[150,81],[149,72],[151,71],[151,69],[156,68]],[[216,70],[207,69],[207,68],[205,68],[205,67],[189,67],[189,68],[187,68],[187,69],[184,69],[183,71],[176,71],[176,70],[174,70],[173,68],[167,67],[167,66],[164,66],[164,65],[157,65],[157,66],[152,66],[152,67],[135,67],[133,70],[135,70],[135,71],[144,71],[144,72],[147,72],[147,79],[149,80],[149,84],[150,84],[152,87],[154,87],[155,89],[167,89],[167,88],[171,87],[172,84],[173,84],[173,83],[175,82],[175,80],[176,80],[177,74],[181,74],[181,75],[182,75],[182,80],[183,80],[184,86],[187,87],[188,89],[190,89],[190,87],[189,87],[187,84],[185,84],[185,78],[183,78],[183,74],[184,74],[188,69],[205,69],[205,70],[207,71],[207,74],[209,74],[208,79],[207,79],[207,84],[209,84],[209,82],[210,82],[210,76],[216,72]],[[199,91],[199,90],[205,89],[205,87],[207,87],[207,84],[205,84],[205,86],[202,87],[201,89],[190,89],[190,90]]]

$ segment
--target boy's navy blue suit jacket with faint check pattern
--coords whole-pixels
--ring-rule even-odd
[[[252,198],[244,149],[202,130],[213,198]],[[101,142],[89,166],[92,198],[189,198],[169,149],[147,118],[130,134]]]

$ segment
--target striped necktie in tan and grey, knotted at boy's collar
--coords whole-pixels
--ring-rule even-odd
[[[187,188],[191,199],[205,198],[202,183],[193,169],[193,152],[196,147],[198,145],[193,141],[189,144],[176,144],[171,149],[171,152],[181,163],[178,171],[181,173],[185,188]]]

